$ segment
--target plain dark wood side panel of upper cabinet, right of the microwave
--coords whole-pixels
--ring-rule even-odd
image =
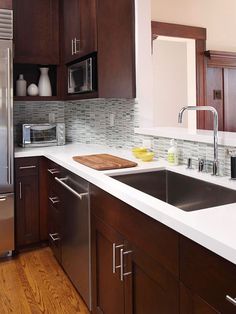
[[[135,98],[135,8],[133,0],[97,0],[98,93]]]

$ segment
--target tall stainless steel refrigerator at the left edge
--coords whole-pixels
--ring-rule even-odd
[[[0,256],[14,250],[12,11],[0,10]]]

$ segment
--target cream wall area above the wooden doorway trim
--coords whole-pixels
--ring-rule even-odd
[[[151,0],[151,10],[152,20],[207,28],[207,49],[236,51],[236,0]]]

